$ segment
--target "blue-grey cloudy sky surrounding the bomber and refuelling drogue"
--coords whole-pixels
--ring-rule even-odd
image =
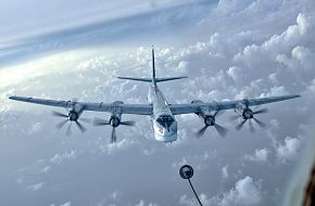
[[[288,205],[314,143],[314,11],[312,0],[1,1],[0,205],[197,205],[184,164],[203,205]],[[111,128],[68,137],[51,115],[65,110],[8,100],[146,103],[148,85],[115,77],[149,77],[151,44],[158,76],[189,76],[159,85],[169,103],[302,98],[266,105],[255,132],[225,112],[224,139],[213,128],[197,139],[203,120],[176,116],[172,145],[146,116],[123,115],[136,126],[110,144]]]

